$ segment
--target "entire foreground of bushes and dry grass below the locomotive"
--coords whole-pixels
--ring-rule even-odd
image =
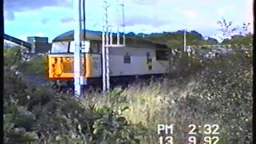
[[[161,123],[174,124],[175,143],[186,141],[190,123],[218,124],[220,143],[251,143],[250,52],[238,50],[206,62],[181,61],[187,65],[183,77],[79,101],[46,87],[26,86],[5,62],[5,143],[156,143]],[[189,75],[190,70],[194,74]]]

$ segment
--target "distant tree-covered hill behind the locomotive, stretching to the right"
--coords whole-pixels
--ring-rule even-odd
[[[142,38],[150,40],[152,42],[158,42],[166,44],[170,48],[175,48],[178,50],[182,50],[183,48],[183,37],[184,30],[178,30],[176,32],[166,32],[162,33],[151,33],[151,34],[134,34],[134,32],[130,32],[127,34],[128,36],[133,36],[137,38]],[[199,45],[217,45],[217,44],[231,44],[231,45],[245,45],[249,46],[252,44],[253,37],[252,34],[246,34],[246,36],[242,35],[234,35],[231,39],[224,39],[221,43],[217,41],[215,38],[204,38],[202,34],[198,33],[196,30],[186,31],[186,45],[187,46],[199,46]]]

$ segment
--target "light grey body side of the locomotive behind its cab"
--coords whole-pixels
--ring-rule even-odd
[[[110,76],[166,74],[168,60],[157,60],[155,48],[110,48]]]

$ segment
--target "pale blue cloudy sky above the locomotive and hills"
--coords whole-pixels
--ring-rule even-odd
[[[196,30],[205,37],[218,38],[217,22],[225,18],[234,26],[250,22],[253,32],[253,0],[108,0],[108,22],[122,24],[125,32],[162,33]],[[102,30],[103,0],[86,0],[86,29]],[[52,39],[74,30],[72,0],[4,0],[4,31],[26,41],[38,36]],[[113,31],[117,29],[113,28]]]

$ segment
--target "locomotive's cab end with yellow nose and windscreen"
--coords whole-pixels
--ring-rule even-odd
[[[100,35],[87,34],[86,40],[82,40],[81,50],[81,76],[85,85],[97,86],[101,84],[99,79],[102,72],[101,65],[101,41]],[[54,83],[73,86],[74,82],[74,41],[73,31],[54,38],[50,54],[46,58],[46,78]],[[96,40],[95,40],[96,39]]]

